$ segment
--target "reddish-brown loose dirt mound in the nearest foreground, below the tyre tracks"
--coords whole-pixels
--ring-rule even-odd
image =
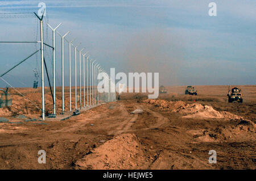
[[[76,162],[76,169],[139,169],[146,162],[135,134],[121,134],[91,150]]]

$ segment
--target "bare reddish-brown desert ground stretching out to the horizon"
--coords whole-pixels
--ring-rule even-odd
[[[158,99],[122,93],[63,120],[72,114],[67,87],[65,114],[45,121],[35,107],[40,89],[18,89],[35,105],[10,89],[13,105],[0,108],[7,119],[0,123],[0,169],[256,169],[256,85],[237,87],[243,103],[228,103],[227,86],[196,86],[198,95],[172,86]],[[138,108],[143,112],[131,113]],[[46,110],[52,110],[49,89]],[[39,150],[46,150],[46,164],[38,163]],[[208,162],[210,150],[216,164]]]

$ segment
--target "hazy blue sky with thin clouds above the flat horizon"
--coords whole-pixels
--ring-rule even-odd
[[[46,3],[44,41],[52,27],[85,48],[105,70],[159,72],[160,85],[255,85],[256,1],[0,1],[0,41],[38,41],[39,20],[10,18],[10,12],[38,12]],[[217,16],[209,16],[210,2]],[[24,15],[24,14],[23,14]],[[0,74],[26,58],[39,44],[0,43]],[[74,79],[72,47],[72,79]],[[79,55],[79,54],[78,54]],[[52,81],[52,50],[45,47]],[[64,44],[68,86],[68,43]],[[77,66],[79,65],[79,57]],[[77,67],[78,68],[78,67]],[[15,87],[32,86],[40,73],[40,53],[3,76]],[[61,82],[61,39],[56,34],[56,83]],[[77,77],[78,78],[78,77]],[[73,81],[74,82],[74,81]],[[40,84],[40,83],[39,83]],[[0,80],[0,87],[6,83]]]

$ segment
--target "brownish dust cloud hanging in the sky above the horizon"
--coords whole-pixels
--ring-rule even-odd
[[[159,85],[179,85],[182,42],[181,37],[162,29],[134,33],[125,51],[127,71],[158,72]]]

